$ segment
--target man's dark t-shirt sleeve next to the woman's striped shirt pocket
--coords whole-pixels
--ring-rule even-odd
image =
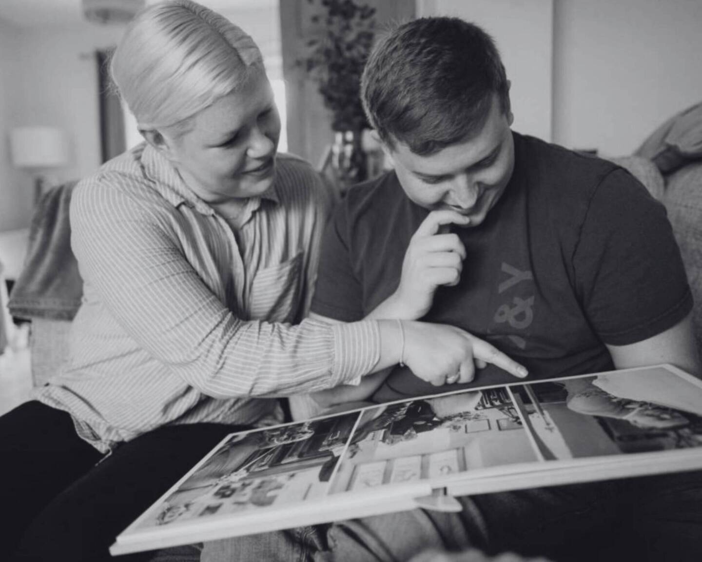
[[[355,322],[364,316],[363,291],[351,259],[348,225],[348,209],[341,202],[322,239],[311,311],[334,320]]]

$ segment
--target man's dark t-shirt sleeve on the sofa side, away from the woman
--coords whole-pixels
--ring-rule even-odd
[[[605,344],[648,339],[692,308],[665,207],[623,169],[593,193],[573,264],[583,308]]]

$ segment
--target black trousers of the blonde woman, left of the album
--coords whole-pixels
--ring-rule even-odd
[[[0,417],[0,549],[17,561],[111,558],[119,532],[228,433],[222,424],[166,426],[100,452],[77,436],[69,414],[28,402]]]

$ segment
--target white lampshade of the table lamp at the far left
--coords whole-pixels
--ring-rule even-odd
[[[18,127],[10,133],[12,162],[18,168],[54,168],[68,164],[68,136],[53,127]]]

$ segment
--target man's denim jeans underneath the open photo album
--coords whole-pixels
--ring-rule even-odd
[[[204,544],[201,562],[406,562],[424,549],[514,551],[557,562],[688,562],[702,552],[702,473],[462,497],[415,509]]]

